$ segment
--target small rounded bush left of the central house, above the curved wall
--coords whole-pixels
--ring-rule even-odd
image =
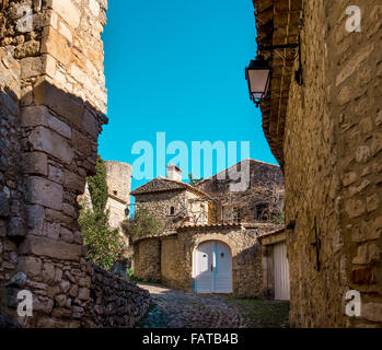
[[[121,226],[130,240],[142,236],[158,236],[163,231],[163,223],[146,208],[137,210],[135,217],[126,219]]]

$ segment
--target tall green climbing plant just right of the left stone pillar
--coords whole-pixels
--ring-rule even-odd
[[[106,167],[101,156],[96,162],[96,174],[88,177],[86,182],[93,208],[82,203],[79,223],[88,245],[88,259],[109,270],[121,258],[125,244],[119,230],[111,229],[108,224]]]

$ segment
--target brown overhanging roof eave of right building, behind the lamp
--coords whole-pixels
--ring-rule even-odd
[[[253,0],[253,4],[256,9],[257,45],[298,43],[301,0]],[[282,56],[290,54],[290,49],[279,51]],[[273,78],[270,93],[261,104],[263,130],[273,154],[282,168],[285,122],[294,62],[282,59],[276,52],[269,59]]]

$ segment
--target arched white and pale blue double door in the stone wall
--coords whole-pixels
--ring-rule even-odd
[[[201,243],[194,252],[193,261],[194,292],[232,293],[232,254],[225,243]]]

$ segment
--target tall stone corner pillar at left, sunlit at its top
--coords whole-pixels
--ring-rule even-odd
[[[18,271],[26,280],[16,287],[34,298],[33,317],[19,322],[88,326],[91,265],[83,258],[77,197],[84,191],[85,176],[94,174],[97,137],[107,122],[101,40],[106,1],[1,5],[1,45],[21,67],[26,230],[22,221],[11,221],[16,235],[25,236],[16,243]]]

